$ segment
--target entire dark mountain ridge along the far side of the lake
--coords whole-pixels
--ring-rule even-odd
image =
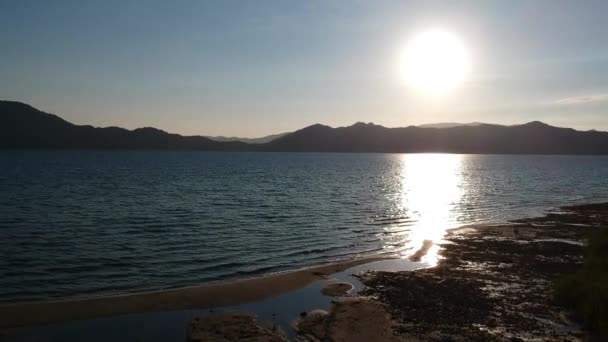
[[[358,122],[315,124],[263,143],[215,141],[146,127],[74,125],[27,104],[0,101],[2,149],[164,149],[207,151],[387,152],[479,154],[608,154],[608,132],[576,131],[534,121],[503,126],[387,128]]]

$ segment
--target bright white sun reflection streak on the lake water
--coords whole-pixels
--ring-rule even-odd
[[[435,265],[439,243],[456,222],[455,206],[463,196],[462,155],[401,155],[399,205],[413,220],[402,257]],[[431,243],[432,242],[432,243]]]

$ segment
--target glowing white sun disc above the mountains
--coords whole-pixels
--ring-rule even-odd
[[[469,71],[469,54],[461,39],[448,31],[420,33],[401,57],[401,77],[412,88],[441,94],[460,85]]]

